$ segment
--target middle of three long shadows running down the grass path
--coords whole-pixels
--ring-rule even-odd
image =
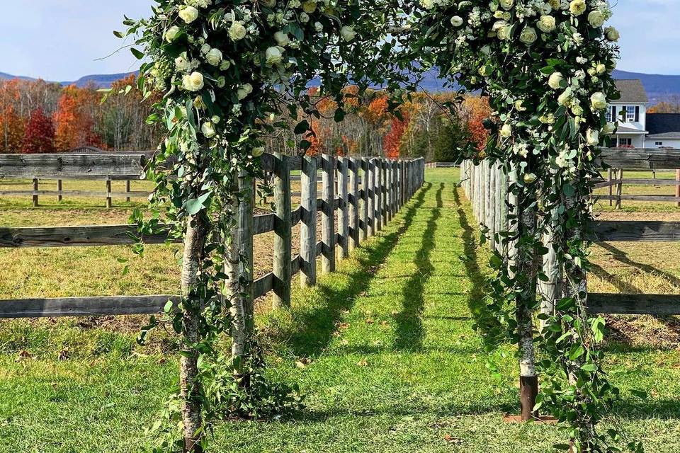
[[[425,309],[425,285],[434,270],[430,256],[435,246],[437,221],[441,217],[441,209],[444,206],[441,197],[443,190],[444,183],[441,183],[436,194],[437,205],[430,211],[421,246],[416,251],[414,263],[418,272],[411,275],[404,284],[402,310],[395,316],[397,323],[395,349],[398,350],[419,350],[423,345],[425,330],[421,316]]]

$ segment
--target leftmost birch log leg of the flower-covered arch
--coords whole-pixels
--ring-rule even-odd
[[[203,249],[208,234],[204,213],[190,216],[186,226],[181,270],[182,321],[186,339],[181,345],[179,362],[180,411],[183,422],[184,449],[202,453],[200,428],[203,420],[200,411],[200,381],[198,379],[198,352],[192,345],[198,343],[198,316],[202,303],[194,292],[198,271],[203,265]]]

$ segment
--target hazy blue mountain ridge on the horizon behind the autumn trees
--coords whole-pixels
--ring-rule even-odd
[[[93,74],[83,76],[76,81],[59,82],[62,85],[76,85],[79,87],[94,84],[97,88],[109,88],[114,81],[123,79],[123,77],[135,73],[120,73],[120,74]],[[613,73],[615,79],[640,79],[642,85],[647,90],[647,96],[650,98],[650,103],[655,104],[672,96],[680,96],[680,76],[667,76],[660,74],[643,74],[641,72],[619,71],[616,69]],[[421,88],[428,91],[446,91],[451,88],[444,88],[441,79],[438,79],[436,71],[431,71],[426,74],[424,81],[421,83]],[[1,79],[21,79],[21,80],[35,80],[25,76],[13,76],[0,72]]]

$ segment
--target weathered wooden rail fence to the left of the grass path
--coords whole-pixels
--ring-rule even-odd
[[[0,178],[118,178],[140,174],[147,153],[116,154],[6,154],[0,156]],[[276,212],[254,215],[254,197],[239,207],[239,229],[245,235],[246,260],[251,272],[253,237],[273,231],[273,271],[247,284],[253,299],[270,291],[274,303],[290,304],[293,275],[300,271],[302,285],[314,285],[317,257],[322,273],[335,270],[336,249],[345,258],[366,238],[390,222],[424,183],[423,159],[388,160],[333,156],[294,157],[265,154],[261,164],[273,172]],[[317,198],[317,168],[322,169],[322,197]],[[290,171],[301,170],[301,203],[292,209]],[[360,188],[361,182],[361,188]],[[322,216],[322,237],[317,241],[317,218]],[[291,229],[300,223],[300,254],[293,257]],[[49,226],[0,228],[0,247],[72,247],[130,244],[135,229],[128,225]],[[165,234],[145,236],[145,243],[163,243]],[[252,280],[245,279],[246,281]],[[162,310],[171,294],[56,299],[0,300],[0,318],[153,314]]]

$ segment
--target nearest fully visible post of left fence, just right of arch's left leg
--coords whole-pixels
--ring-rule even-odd
[[[274,265],[273,308],[290,306],[291,207],[288,156],[274,153]]]

